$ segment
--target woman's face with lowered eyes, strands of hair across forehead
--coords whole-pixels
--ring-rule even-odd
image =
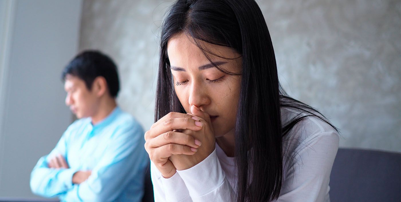
[[[203,42],[210,59],[231,73],[240,73],[242,57],[232,48]],[[185,34],[168,41],[168,59],[174,78],[174,89],[182,106],[190,113],[191,105],[211,117],[215,136],[233,132],[238,108],[241,76],[227,75],[215,68]],[[226,58],[226,59],[225,59]]]

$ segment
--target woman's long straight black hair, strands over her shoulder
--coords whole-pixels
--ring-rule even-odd
[[[155,121],[170,111],[186,113],[174,92],[167,55],[168,40],[180,33],[190,36],[205,56],[213,53],[199,40],[231,47],[241,54],[243,68],[235,124],[236,201],[277,199],[283,176],[283,137],[309,116],[330,123],[281,89],[269,30],[254,0],[178,0],[172,4],[161,31]],[[282,125],[281,107],[300,113]]]

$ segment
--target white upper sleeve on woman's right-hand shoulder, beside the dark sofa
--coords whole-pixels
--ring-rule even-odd
[[[329,201],[329,180],[338,149],[338,134],[311,135],[294,151],[293,161],[285,169],[285,178],[277,202]]]

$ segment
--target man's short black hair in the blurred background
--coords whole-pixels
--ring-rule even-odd
[[[61,78],[67,75],[82,79],[89,91],[96,77],[104,77],[111,97],[117,97],[120,89],[117,66],[113,60],[98,50],[86,50],[77,55],[63,70]]]

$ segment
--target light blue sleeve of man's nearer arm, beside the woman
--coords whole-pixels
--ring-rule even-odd
[[[127,124],[124,124],[127,125]],[[144,176],[148,155],[144,148],[144,132],[138,124],[117,131],[106,148],[105,155],[92,170],[91,176],[65,194],[65,201],[113,201],[128,183],[135,181],[137,200],[144,192]]]

